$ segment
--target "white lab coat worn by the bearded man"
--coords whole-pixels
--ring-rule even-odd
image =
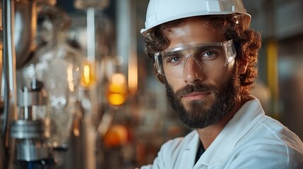
[[[162,145],[153,165],[141,169],[303,169],[303,144],[296,134],[266,116],[258,99],[246,102],[195,164],[195,131]]]

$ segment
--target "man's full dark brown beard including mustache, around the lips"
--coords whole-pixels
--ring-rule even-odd
[[[167,98],[182,123],[193,129],[202,129],[218,123],[227,113],[230,113],[237,103],[240,91],[237,68],[233,68],[230,75],[221,79],[223,80],[218,86],[213,84],[190,84],[179,89],[176,93],[174,93],[172,86],[165,81]],[[210,92],[215,94],[215,100],[213,103],[208,103],[206,100],[189,101],[185,108],[181,101],[182,96],[191,92]],[[207,107],[206,104],[208,104]]]

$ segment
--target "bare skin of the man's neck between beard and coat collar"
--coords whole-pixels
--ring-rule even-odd
[[[246,103],[246,101],[249,101],[249,99],[239,99],[237,104],[234,105],[234,107],[232,108],[232,111],[230,111],[230,113],[227,113],[227,115],[225,115],[225,117],[222,118],[218,123],[205,127],[203,129],[197,129],[198,135],[201,139],[204,149],[208,149],[208,146],[213,143],[213,141],[218,136],[218,134],[220,134],[225,125],[227,125],[230,119],[234,117],[234,114],[239,111],[239,109],[242,107],[243,104]]]

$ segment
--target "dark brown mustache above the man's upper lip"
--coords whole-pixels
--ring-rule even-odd
[[[212,84],[190,84],[186,85],[182,89],[179,89],[175,95],[177,99],[181,99],[185,94],[190,94],[192,92],[214,92],[217,94],[219,91],[215,85]]]

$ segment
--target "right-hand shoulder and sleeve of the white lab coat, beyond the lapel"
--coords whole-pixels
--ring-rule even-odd
[[[234,150],[225,168],[303,168],[302,141],[267,116],[239,140]]]

